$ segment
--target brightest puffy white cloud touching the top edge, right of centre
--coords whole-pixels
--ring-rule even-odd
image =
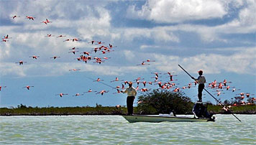
[[[134,19],[147,19],[159,23],[183,22],[196,19],[222,18],[227,14],[225,1],[215,0],[150,0],[140,10],[130,6],[127,16]]]

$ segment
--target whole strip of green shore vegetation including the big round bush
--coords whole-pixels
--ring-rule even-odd
[[[255,102],[247,98],[248,103],[241,103],[241,98],[225,100],[224,104],[232,113],[256,114]],[[193,102],[183,92],[168,90],[152,90],[152,92],[140,95],[138,104],[134,107],[135,114],[159,114],[175,112],[176,114],[193,114]],[[206,103],[209,113],[229,113],[223,106]],[[68,115],[124,115],[126,106],[91,106],[77,107],[31,107],[20,104],[12,108],[0,108],[0,116],[68,116]]]

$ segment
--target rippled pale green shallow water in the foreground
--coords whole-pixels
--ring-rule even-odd
[[[256,115],[128,123],[122,116],[1,116],[0,144],[256,144]]]

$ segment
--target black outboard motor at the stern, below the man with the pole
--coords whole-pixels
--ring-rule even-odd
[[[206,106],[204,106],[201,102],[196,103],[193,106],[192,112],[198,118],[211,118],[211,116],[213,116],[213,114],[208,113]]]

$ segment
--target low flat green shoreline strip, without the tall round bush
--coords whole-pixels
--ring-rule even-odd
[[[191,109],[192,110],[192,109]],[[256,106],[234,106],[230,109],[234,114],[256,114]],[[230,114],[222,109],[221,106],[208,106],[209,113]],[[32,108],[19,106],[19,108],[0,108],[0,116],[116,116],[127,114],[127,108],[114,106],[96,106],[96,107],[47,107]],[[134,107],[134,114],[140,113],[137,107]],[[184,113],[193,115],[192,111]]]

